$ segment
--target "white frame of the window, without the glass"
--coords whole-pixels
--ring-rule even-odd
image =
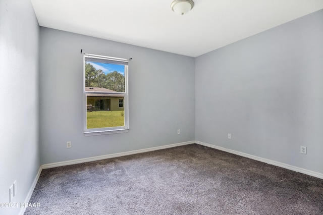
[[[86,110],[86,100],[87,94],[97,93],[97,94],[106,94],[106,92],[95,92],[95,91],[85,91],[85,63],[86,61],[92,62],[100,62],[107,64],[119,64],[125,65],[125,92],[114,92],[113,94],[124,96],[124,126],[119,127],[107,127],[107,128],[91,128],[87,129],[87,110]],[[85,136],[93,136],[93,135],[102,135],[102,134],[115,134],[115,133],[125,133],[129,131],[129,106],[128,106],[128,61],[127,59],[122,58],[113,58],[99,55],[91,55],[84,53],[83,55],[83,125],[84,125],[84,135]],[[112,92],[109,92],[112,94]]]

